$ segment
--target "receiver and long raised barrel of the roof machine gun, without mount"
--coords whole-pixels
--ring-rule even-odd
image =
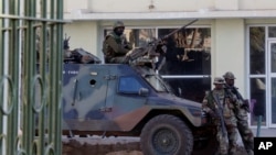
[[[172,31],[171,33],[164,35],[163,37],[160,37],[158,40],[155,40],[155,41],[150,42],[145,47],[137,47],[137,48],[135,48],[129,54],[127,54],[127,60],[135,60],[135,59],[137,59],[139,57],[142,57],[145,55],[157,56],[158,55],[158,52],[157,52],[158,51],[158,46],[162,46],[164,40],[167,40],[168,37],[170,37],[172,34],[179,32],[180,30],[185,29],[187,26],[193,24],[197,21],[198,21],[198,19],[189,22],[188,24],[181,26],[180,29],[177,29],[177,30]]]

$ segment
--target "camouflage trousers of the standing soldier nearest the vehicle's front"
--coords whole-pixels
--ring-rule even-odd
[[[237,129],[235,119],[231,119],[225,124],[226,135],[223,136],[221,125],[216,125],[216,140],[219,142],[219,155],[234,155],[236,153]]]

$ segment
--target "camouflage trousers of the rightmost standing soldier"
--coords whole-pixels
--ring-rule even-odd
[[[247,112],[244,109],[237,111],[237,130],[248,154],[254,151],[254,135],[248,125]]]

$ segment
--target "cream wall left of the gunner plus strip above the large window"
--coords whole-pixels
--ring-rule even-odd
[[[125,21],[126,26],[172,26],[180,27],[191,20],[144,20],[144,21]],[[102,43],[104,40],[104,27],[112,27],[114,21],[73,21],[64,25],[64,35],[71,36],[70,47],[84,48],[87,52],[103,58]],[[210,26],[212,20],[199,20],[193,25]]]

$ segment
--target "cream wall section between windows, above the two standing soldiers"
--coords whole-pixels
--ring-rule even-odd
[[[222,76],[226,71],[232,71],[236,76],[236,86],[244,93],[246,87],[246,62],[245,62],[245,27],[243,19],[215,20],[213,53],[212,53],[212,75]]]

